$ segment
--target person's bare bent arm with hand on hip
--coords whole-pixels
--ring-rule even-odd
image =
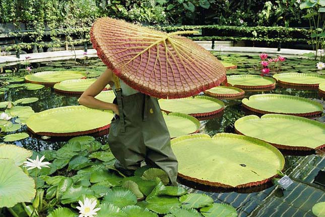
[[[103,110],[112,110],[118,115],[118,106],[113,103],[103,102],[95,98],[107,84],[112,83],[113,72],[110,69],[106,69],[105,72],[81,95],[79,98],[79,104]]]

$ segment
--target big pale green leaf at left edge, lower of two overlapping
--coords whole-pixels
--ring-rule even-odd
[[[0,207],[30,202],[35,196],[34,180],[12,159],[0,159]]]

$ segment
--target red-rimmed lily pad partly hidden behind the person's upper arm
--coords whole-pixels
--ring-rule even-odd
[[[57,83],[53,86],[54,90],[69,94],[82,94],[92,85],[96,79],[73,79]],[[109,89],[107,85],[105,89]]]

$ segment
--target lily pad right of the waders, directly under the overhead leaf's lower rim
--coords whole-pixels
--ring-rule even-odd
[[[218,99],[206,96],[187,97],[181,99],[160,99],[161,110],[185,113],[194,117],[215,115],[224,110],[225,104]]]

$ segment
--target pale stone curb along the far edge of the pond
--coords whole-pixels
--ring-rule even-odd
[[[273,55],[284,55],[284,56],[294,56],[302,55],[304,53],[313,52],[311,50],[295,50],[295,49],[281,49],[278,52],[277,48],[264,48],[264,47],[227,47],[227,46],[216,46],[215,49],[211,49],[211,42],[200,42],[200,45],[206,48],[209,51],[219,51],[221,53],[268,53]],[[95,49],[88,49],[88,57],[96,57]],[[26,57],[30,57],[26,59]],[[0,64],[2,65],[14,65],[17,63],[28,62],[44,62],[44,61],[53,61],[53,60],[62,60],[62,59],[75,59],[84,58],[83,50],[76,51],[52,51],[52,52],[43,52],[43,53],[28,53],[21,54],[20,58],[17,58],[16,55],[10,56],[0,56]]]

